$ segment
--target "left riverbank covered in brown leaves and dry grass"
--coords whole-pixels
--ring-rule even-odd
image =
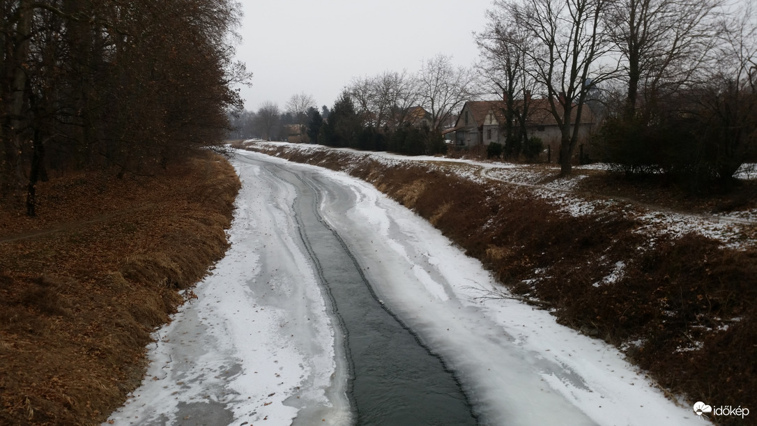
[[[0,209],[0,424],[104,421],[179,289],[223,256],[232,166],[204,153],[154,173],[54,176],[39,218]]]

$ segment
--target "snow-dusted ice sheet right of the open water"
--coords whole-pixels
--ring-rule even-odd
[[[667,400],[603,341],[556,324],[545,310],[482,299],[508,294],[478,260],[371,185],[333,175],[354,188],[360,203],[331,225],[354,247],[382,300],[456,370],[491,424],[694,421],[688,407]]]

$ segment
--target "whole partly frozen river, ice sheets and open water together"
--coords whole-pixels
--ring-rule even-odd
[[[372,186],[238,151],[232,247],[113,424],[690,424]],[[261,423],[265,421],[264,423]]]

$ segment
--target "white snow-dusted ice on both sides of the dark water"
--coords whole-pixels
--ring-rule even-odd
[[[382,302],[456,371],[484,424],[704,423],[615,348],[507,294],[481,298],[501,291],[481,264],[371,185],[238,151],[232,247],[157,331],[142,387],[108,424],[350,423],[341,331],[297,243],[294,191],[260,160],[354,194],[344,214],[324,197],[324,218]]]

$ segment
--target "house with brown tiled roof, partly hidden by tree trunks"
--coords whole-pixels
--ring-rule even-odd
[[[516,100],[516,106],[522,107],[523,100]],[[472,148],[476,145],[488,146],[492,142],[505,143],[503,132],[505,123],[505,101],[468,101],[460,110],[455,126],[444,131],[447,139],[454,145]],[[575,123],[577,109],[572,110],[571,123]],[[550,111],[550,102],[546,98],[529,99],[526,126],[529,137],[540,138],[544,148],[559,150],[561,132],[555,117]],[[578,143],[587,140],[596,125],[596,118],[584,105],[581,110],[581,122],[578,129]]]

